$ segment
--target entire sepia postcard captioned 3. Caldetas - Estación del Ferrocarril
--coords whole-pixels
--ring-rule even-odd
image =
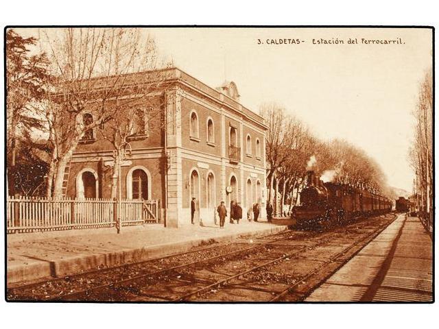
[[[434,302],[434,27],[8,26],[4,51],[7,302]]]

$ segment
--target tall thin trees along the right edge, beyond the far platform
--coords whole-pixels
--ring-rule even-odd
[[[416,175],[414,199],[419,216],[431,228],[433,223],[433,78],[427,73],[420,84],[415,118],[414,141],[409,151]]]

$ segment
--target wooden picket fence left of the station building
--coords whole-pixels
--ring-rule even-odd
[[[120,217],[122,226],[158,223],[158,200],[45,199],[8,197],[7,232],[108,228]]]

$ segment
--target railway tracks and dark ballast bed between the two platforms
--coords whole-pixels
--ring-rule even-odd
[[[245,301],[246,296],[236,298],[233,293],[247,291],[248,301],[302,300],[387,227],[394,215],[371,219],[360,219],[327,232],[287,231],[253,243],[219,243],[166,258],[59,278],[44,283],[45,288],[50,286],[45,290],[41,290],[42,283],[16,287],[8,290],[8,299]],[[336,252],[324,257],[319,254],[319,250],[329,249]],[[295,267],[310,262],[316,266],[295,273]],[[261,279],[268,274],[267,280]]]

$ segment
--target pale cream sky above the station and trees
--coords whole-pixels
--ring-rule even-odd
[[[161,56],[179,69],[213,88],[224,80],[235,82],[241,103],[254,112],[264,102],[281,104],[322,140],[344,138],[361,147],[381,165],[390,186],[412,191],[407,153],[418,86],[431,70],[430,29],[148,28],[143,33],[152,34]],[[350,38],[357,43],[348,44]],[[318,44],[322,39],[333,43]]]

